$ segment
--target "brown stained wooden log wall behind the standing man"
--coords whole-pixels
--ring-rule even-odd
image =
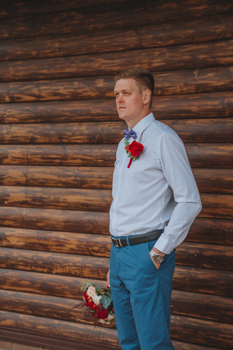
[[[175,349],[232,348],[233,2],[12,0],[0,18],[0,338],[120,349],[115,325],[71,307],[83,281],[106,285],[124,128],[112,74],[136,65],[154,75],[152,110],[184,141],[203,204],[177,248]]]

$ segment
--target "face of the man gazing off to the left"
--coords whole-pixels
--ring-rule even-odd
[[[134,124],[134,121],[136,124],[143,113],[144,99],[143,94],[139,93],[135,80],[117,80],[114,94],[119,118],[124,119],[128,125]]]

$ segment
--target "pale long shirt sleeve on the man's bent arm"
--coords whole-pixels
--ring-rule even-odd
[[[184,144],[177,134],[162,135],[159,157],[163,174],[173,190],[177,205],[154,247],[169,254],[187,236],[202,204]]]

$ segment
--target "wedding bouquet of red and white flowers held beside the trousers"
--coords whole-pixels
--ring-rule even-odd
[[[110,286],[100,288],[100,286],[88,282],[87,284],[83,283],[81,290],[83,290],[83,301],[72,309],[86,306],[87,311],[99,322],[110,324],[115,318]]]

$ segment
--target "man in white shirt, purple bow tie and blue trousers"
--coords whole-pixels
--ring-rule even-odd
[[[151,73],[129,68],[116,73],[115,82],[119,118],[129,127],[117,148],[110,208],[110,285],[119,341],[123,350],[171,350],[175,247],[201,200],[183,142],[150,112]]]

